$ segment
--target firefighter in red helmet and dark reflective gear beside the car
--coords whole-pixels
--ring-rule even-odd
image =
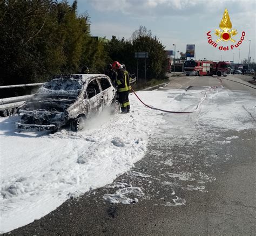
[[[118,95],[119,103],[121,106],[122,113],[130,112],[130,102],[129,102],[129,90],[131,89],[129,81],[129,73],[125,68],[118,62],[114,61],[112,63],[112,68],[117,72],[117,85],[118,85]]]

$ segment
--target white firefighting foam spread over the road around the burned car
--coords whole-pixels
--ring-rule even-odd
[[[193,109],[202,99],[201,92],[203,89],[191,92],[166,89],[138,92],[138,95],[154,107],[180,111]],[[210,91],[200,110],[192,114],[152,110],[132,94],[130,103],[130,114],[110,116],[103,113],[85,122],[85,130],[78,133],[65,129],[51,135],[19,133],[14,128],[19,117],[0,118],[0,145],[3,150],[0,157],[0,232],[41,218],[70,197],[112,183],[143,158],[150,135],[172,135],[171,144],[182,147],[204,138],[198,127],[208,127],[212,131],[254,128],[255,97],[246,92],[223,88]],[[216,144],[228,144],[234,137]],[[156,151],[152,155],[160,157],[161,153]],[[166,161],[165,164],[171,166],[172,162]],[[139,176],[150,177],[143,173]],[[197,181],[199,184],[214,181],[214,177],[206,176],[169,173],[166,177]],[[133,200],[136,202],[135,198]],[[126,198],[126,203],[129,201]],[[182,203],[182,200],[177,199],[175,203]]]

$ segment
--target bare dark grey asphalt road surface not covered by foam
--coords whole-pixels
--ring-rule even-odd
[[[239,75],[228,79],[251,85],[246,81],[250,78]],[[164,88],[218,83],[210,77],[170,77]],[[228,80],[222,85],[255,95],[252,87]],[[117,189],[104,186],[67,200],[6,235],[255,235],[255,130],[213,131],[209,126],[203,131],[207,140],[188,138],[185,145],[179,145],[178,139],[186,136],[173,142],[171,130],[150,137],[145,157],[132,168],[135,172],[114,181],[141,188],[144,196],[130,196],[138,203],[111,204],[103,195]],[[239,138],[218,145],[231,136]],[[170,178],[181,172],[192,180]]]

